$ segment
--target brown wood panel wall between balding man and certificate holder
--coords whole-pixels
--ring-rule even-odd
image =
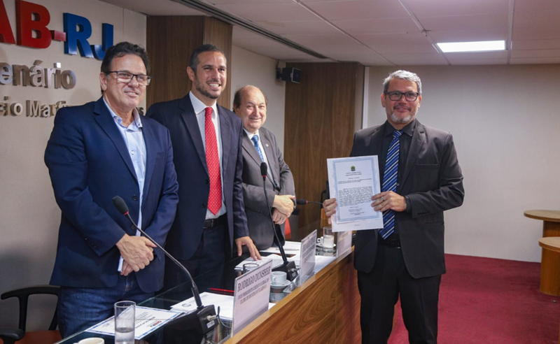
[[[355,125],[361,126],[364,67],[355,62],[286,66],[300,69],[302,80],[286,83],[284,157],[294,175],[297,198],[319,201],[327,159],[348,157]],[[318,206],[300,207],[300,227],[319,217]]]

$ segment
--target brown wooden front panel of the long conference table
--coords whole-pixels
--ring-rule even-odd
[[[353,252],[311,276],[226,344],[360,342],[359,294]]]

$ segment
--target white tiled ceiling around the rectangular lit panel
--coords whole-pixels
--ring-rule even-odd
[[[204,15],[171,0],[104,0],[146,15]],[[560,63],[560,0],[206,0],[328,57],[365,66]],[[435,43],[506,40],[505,52],[442,53]],[[233,44],[321,62],[241,27]]]

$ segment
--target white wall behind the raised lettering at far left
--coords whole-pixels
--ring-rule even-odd
[[[62,31],[62,13],[80,15],[90,20],[90,44],[102,43],[102,22],[113,24],[113,41],[131,41],[146,45],[146,17],[101,1],[41,0],[33,1],[48,8],[49,29]],[[15,1],[4,1],[15,34]],[[42,103],[65,100],[79,105],[97,100],[99,68],[97,59],[64,55],[64,43],[52,41],[47,49],[34,49],[0,43],[0,62],[32,66],[35,59],[41,66],[52,68],[62,63],[62,70],[76,73],[73,89],[53,89],[0,85],[0,101],[25,103],[27,99]],[[143,104],[144,105],[144,104]],[[144,105],[145,106],[145,105]],[[54,264],[60,210],[52,194],[48,170],[43,162],[45,145],[52,131],[54,117],[0,116],[0,293],[35,284],[48,284]],[[50,300],[38,301],[38,308],[52,308]],[[17,301],[0,301],[0,326],[17,327]],[[52,308],[54,309],[54,308]],[[36,312],[37,314],[37,312]],[[52,313],[49,313],[49,316]],[[28,329],[48,322],[31,317]]]

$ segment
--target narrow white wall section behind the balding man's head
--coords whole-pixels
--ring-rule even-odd
[[[267,121],[264,127],[276,136],[280,150],[284,148],[284,103],[286,82],[276,80],[276,60],[255,54],[243,48],[232,47],[232,94],[246,85],[255,85],[265,92],[268,98]],[[283,62],[279,67],[285,66]],[[231,107],[230,107],[231,108]]]

